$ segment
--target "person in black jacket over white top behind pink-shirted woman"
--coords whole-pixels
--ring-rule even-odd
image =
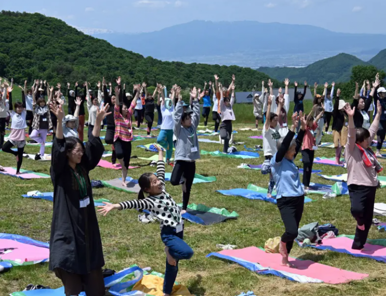
[[[351,109],[354,109],[354,124],[356,128],[363,127],[365,129],[370,128],[370,116],[368,114],[369,108],[373,103],[373,97],[376,87],[373,87],[369,97],[359,96],[358,83],[355,82],[355,95],[354,100],[351,103]]]

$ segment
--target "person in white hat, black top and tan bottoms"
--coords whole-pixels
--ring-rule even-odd
[[[346,102],[340,100],[341,90],[338,89],[337,97],[335,98],[333,121],[332,121],[332,137],[335,148],[335,164],[341,165],[342,148],[347,144],[348,122],[346,121]]]

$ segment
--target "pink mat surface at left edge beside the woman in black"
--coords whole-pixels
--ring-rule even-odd
[[[2,260],[12,260],[20,263],[49,258],[49,249],[22,244],[11,239],[0,239],[0,249],[15,248],[10,253],[1,254]]]

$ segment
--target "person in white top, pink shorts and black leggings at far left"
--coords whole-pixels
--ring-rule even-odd
[[[26,146],[26,133],[25,129],[27,127],[26,121],[26,97],[24,92],[22,92],[22,103],[16,102],[12,106],[12,88],[8,87],[7,91],[9,93],[9,110],[11,112],[11,134],[9,135],[9,140],[4,143],[2,150],[6,153],[11,153],[16,156],[17,168],[16,174],[20,174],[20,168],[23,163],[23,153],[24,147]],[[15,108],[15,110],[13,110]],[[11,148],[16,147],[17,151],[13,151]]]

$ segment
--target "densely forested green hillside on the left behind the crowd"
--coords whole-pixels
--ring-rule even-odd
[[[152,46],[178,46],[178,40],[173,43],[169,39],[165,44]],[[213,79],[213,74],[219,74],[224,84],[229,84],[235,74],[239,90],[252,89],[269,78],[250,68],[144,58],[87,36],[56,18],[39,13],[0,13],[0,76],[14,77],[17,83],[34,78],[51,83],[96,82],[102,76],[112,81],[120,75],[126,83],[146,81],[155,85],[159,82],[168,87],[177,83],[185,88],[202,85],[205,80]]]

